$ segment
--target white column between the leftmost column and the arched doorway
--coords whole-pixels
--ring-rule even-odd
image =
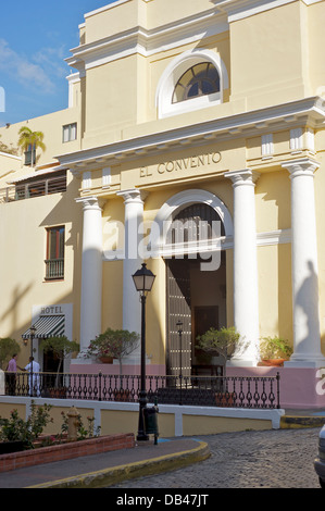
[[[125,204],[125,241],[123,261],[123,328],[129,332],[141,332],[141,308],[133,275],[141,267],[139,242],[142,235],[139,227],[143,222],[143,201],[137,189],[124,190],[117,194],[123,197]],[[134,352],[133,358],[139,356]]]

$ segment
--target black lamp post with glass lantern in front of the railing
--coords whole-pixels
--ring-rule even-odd
[[[145,431],[145,416],[143,410],[147,407],[147,390],[146,390],[146,299],[149,291],[153,286],[155,275],[147,269],[143,263],[141,269],[134,275],[133,279],[137,291],[140,294],[141,301],[141,374],[140,374],[140,394],[139,394],[139,424],[137,440],[148,440],[148,435]]]

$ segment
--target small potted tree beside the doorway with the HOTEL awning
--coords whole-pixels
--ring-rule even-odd
[[[63,361],[70,357],[72,353],[79,351],[79,345],[74,340],[68,340],[64,335],[58,337],[49,337],[43,339],[40,344],[40,349],[43,352],[52,351],[59,359],[59,366],[55,375],[55,382],[50,392],[53,394],[53,397],[62,397],[65,395],[65,387],[60,387],[60,372],[63,365]],[[52,386],[51,386],[52,387]]]

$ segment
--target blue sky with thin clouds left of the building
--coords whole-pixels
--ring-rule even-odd
[[[64,59],[79,43],[84,14],[109,3],[112,0],[1,2],[0,126],[67,108],[71,70]]]

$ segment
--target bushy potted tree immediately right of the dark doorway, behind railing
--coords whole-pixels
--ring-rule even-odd
[[[236,348],[240,344],[240,334],[234,326],[228,328],[222,327],[210,328],[205,334],[198,337],[198,348],[211,354],[218,354],[223,358],[224,375],[226,373],[226,362],[235,353]],[[223,383],[223,381],[222,381]],[[233,395],[227,391],[221,390],[215,394],[215,402],[217,406],[230,406],[234,402]]]

